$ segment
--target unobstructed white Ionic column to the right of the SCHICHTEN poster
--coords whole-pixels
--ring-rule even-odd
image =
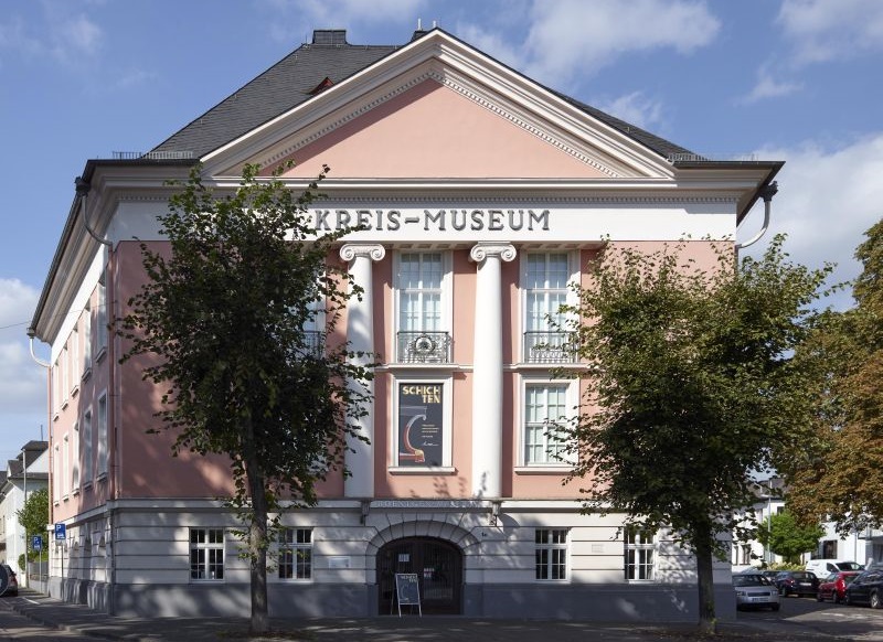
[[[469,253],[476,277],[476,343],[472,370],[472,494],[502,492],[503,343],[501,261],[515,258],[507,243],[479,243]]]

